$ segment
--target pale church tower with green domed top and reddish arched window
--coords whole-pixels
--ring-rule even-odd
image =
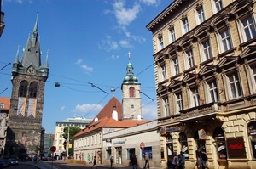
[[[142,119],[142,99],[141,99],[141,84],[138,83],[137,76],[133,74],[133,65],[130,62],[130,53],[129,54],[129,63],[126,67],[126,76],[122,83],[122,92],[123,92],[123,119]]]

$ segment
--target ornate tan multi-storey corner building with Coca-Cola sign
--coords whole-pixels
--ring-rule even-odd
[[[253,0],[175,0],[146,27],[153,36],[161,165],[256,166]]]

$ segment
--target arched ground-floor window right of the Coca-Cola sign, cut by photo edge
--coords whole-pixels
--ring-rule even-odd
[[[256,121],[250,122],[248,125],[248,135],[251,143],[253,158],[256,159]]]

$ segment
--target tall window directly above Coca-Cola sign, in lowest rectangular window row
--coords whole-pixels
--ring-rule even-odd
[[[229,75],[231,99],[241,96],[241,87],[237,74]]]

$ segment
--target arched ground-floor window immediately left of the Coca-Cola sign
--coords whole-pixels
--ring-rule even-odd
[[[221,127],[217,127],[214,130],[213,138],[215,139],[215,143],[216,143],[218,159],[227,159],[225,136],[224,136],[224,131]]]

